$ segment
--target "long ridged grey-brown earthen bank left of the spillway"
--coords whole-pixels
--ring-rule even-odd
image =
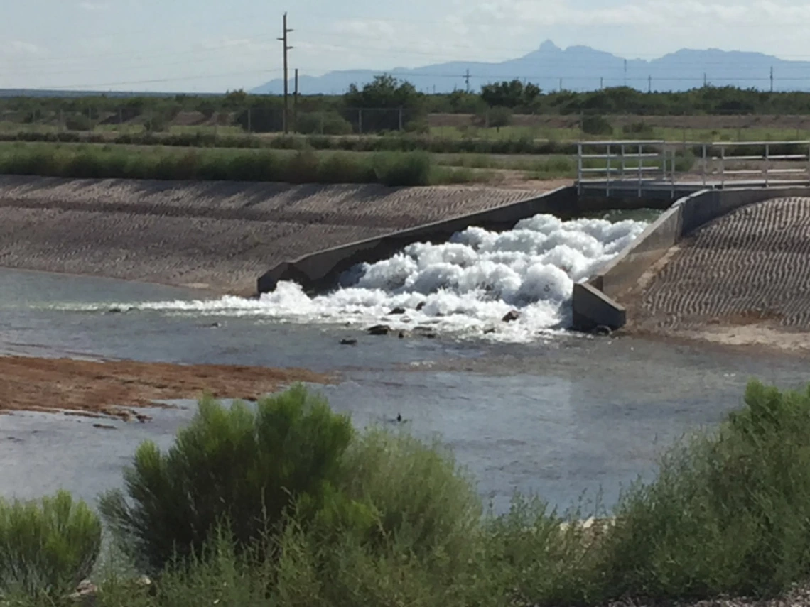
[[[281,261],[554,187],[0,176],[0,266],[250,295]]]

